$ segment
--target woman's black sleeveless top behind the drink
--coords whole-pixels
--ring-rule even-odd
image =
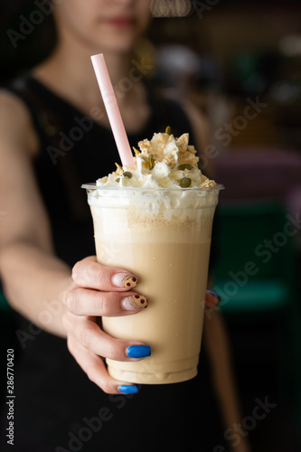
[[[72,266],[95,254],[91,216],[80,185],[115,169],[119,157],[113,135],[29,75],[8,89],[30,111],[40,140],[34,172],[51,221],[55,251]],[[193,144],[192,127],[180,105],[159,99],[151,90],[148,94],[151,116],[140,133],[128,135],[130,145],[150,139],[166,126],[172,127],[175,136],[189,132]],[[204,346],[193,380],[138,385],[135,395],[108,395],[89,381],[65,340],[39,330],[21,315],[15,314],[15,319],[19,351],[14,379],[15,452],[183,448],[212,452],[223,444]],[[6,443],[1,450],[5,447],[11,450]]]

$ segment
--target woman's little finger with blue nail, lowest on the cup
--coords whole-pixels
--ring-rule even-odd
[[[102,359],[87,350],[73,335],[68,337],[67,344],[70,353],[81,369],[87,373],[89,380],[97,384],[102,391],[108,394],[137,392],[135,385],[125,384],[123,381],[117,381],[110,377]]]

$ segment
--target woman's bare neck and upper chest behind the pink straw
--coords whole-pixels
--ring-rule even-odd
[[[33,76],[42,81],[62,99],[71,102],[85,114],[95,108],[105,111],[99,92],[99,85],[90,61],[90,55],[101,51],[71,45],[60,44],[51,57],[33,70]],[[138,77],[130,80],[131,53],[104,52],[108,73],[112,85],[117,89],[118,106],[126,127],[136,131],[144,126],[150,110],[147,105],[146,90]],[[129,80],[130,89],[120,92],[121,80]],[[108,118],[104,115],[99,122],[108,126]]]

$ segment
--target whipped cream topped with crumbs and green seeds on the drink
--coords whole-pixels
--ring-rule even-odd
[[[199,157],[194,146],[189,145],[189,134],[175,138],[157,133],[150,141],[140,141],[138,147],[135,168],[116,164],[117,171],[100,178],[97,186],[181,189],[216,185],[198,168]]]

